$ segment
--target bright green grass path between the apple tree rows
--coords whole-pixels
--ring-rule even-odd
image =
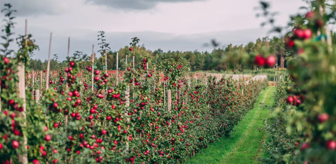
[[[255,108],[250,110],[246,116],[234,127],[236,132],[230,138],[221,138],[220,141],[209,145],[194,157],[187,160],[187,164],[250,164],[261,163],[256,160],[258,157],[265,157],[262,151],[261,140],[267,140],[265,132],[256,131],[255,127],[262,128],[262,118],[269,116],[269,110],[260,107],[260,103],[272,105],[271,98],[276,87],[267,87],[261,91]]]

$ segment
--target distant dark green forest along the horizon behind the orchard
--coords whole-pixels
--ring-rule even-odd
[[[332,32],[333,43],[336,42],[336,32]],[[287,49],[284,45],[283,38],[273,37],[273,38],[258,38],[255,42],[249,42],[246,45],[233,45],[229,44],[225,48],[214,47],[212,52],[200,52],[200,51],[176,51],[176,52],[163,52],[161,49],[155,51],[146,49],[144,45],[134,48],[136,53],[135,61],[140,61],[143,56],[150,56],[152,60],[149,62],[149,66],[152,66],[152,62],[158,58],[174,58],[176,61],[182,58],[184,63],[190,62],[191,66],[196,68],[198,71],[227,71],[231,70],[233,72],[241,72],[244,69],[254,69],[253,65],[242,65],[242,55],[244,53],[257,54],[263,51],[263,47],[268,47],[271,53],[277,56],[277,67],[286,67],[286,56],[296,53]],[[121,67],[120,60],[125,59],[125,55],[129,54],[129,46],[119,49],[119,51],[109,51],[107,55],[107,69],[116,69],[116,55],[119,52],[119,68]],[[54,56],[57,56],[56,54]],[[91,58],[91,54],[87,54],[88,59]],[[131,56],[129,56],[131,57]],[[130,59],[130,58],[129,58]],[[281,59],[284,60],[284,64],[281,65]],[[91,59],[90,59],[91,60]],[[65,61],[57,61],[54,57],[50,62],[50,69],[58,69],[58,66],[65,66]],[[96,66],[99,69],[104,68],[104,57],[95,58]],[[40,59],[32,59],[30,69],[33,70],[44,70],[46,67],[47,60],[41,61]],[[83,62],[83,65],[87,65],[87,62]],[[136,63],[135,65],[138,65]]]

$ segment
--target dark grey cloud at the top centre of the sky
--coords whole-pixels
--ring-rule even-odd
[[[107,5],[116,9],[148,10],[159,3],[195,2],[207,0],[85,0],[96,5]]]

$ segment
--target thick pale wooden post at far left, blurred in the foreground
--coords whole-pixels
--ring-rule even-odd
[[[18,86],[18,94],[19,94],[19,98],[23,99],[23,111],[22,111],[22,115],[24,117],[24,123],[23,123],[23,127],[26,127],[26,80],[25,80],[25,66],[20,63],[18,65],[18,72],[17,75],[19,76],[19,82],[17,84]],[[27,147],[27,137],[26,135],[23,136],[24,137],[24,143],[23,143],[23,147],[26,148]],[[24,150],[25,153],[22,155],[18,155],[18,159],[19,162],[23,163],[23,164],[27,164],[28,163],[28,155],[27,155],[27,150]]]

